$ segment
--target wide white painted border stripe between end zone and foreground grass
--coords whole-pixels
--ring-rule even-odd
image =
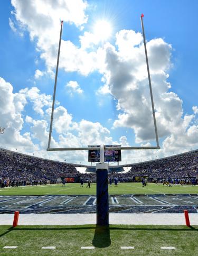
[[[198,214],[190,213],[190,224],[198,225]],[[0,225],[12,225],[14,214],[0,214]],[[18,225],[88,225],[96,224],[96,214],[20,214]],[[114,225],[185,225],[183,213],[110,213]]]

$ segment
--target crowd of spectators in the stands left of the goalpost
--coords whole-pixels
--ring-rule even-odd
[[[61,177],[78,177],[80,172],[72,164],[31,157],[8,150],[0,150],[0,184],[54,184]],[[7,185],[6,185],[7,186]]]

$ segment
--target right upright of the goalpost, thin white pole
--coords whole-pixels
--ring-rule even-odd
[[[154,126],[155,126],[156,143],[157,143],[157,147],[159,147],[158,134],[157,134],[157,125],[156,125],[156,119],[155,119],[155,108],[154,108],[154,102],[153,102],[153,93],[152,93],[152,86],[151,86],[151,80],[150,80],[150,71],[149,71],[149,66],[148,66],[148,56],[147,56],[147,49],[146,49],[146,40],[145,40],[145,33],[144,33],[143,17],[144,17],[144,14],[141,15],[141,23],[142,23],[143,38],[144,38],[144,49],[145,49],[146,66],[147,66],[147,72],[148,72],[148,82],[149,82],[149,87],[150,87],[150,98],[151,98],[152,110],[153,110],[153,120],[154,120]]]

